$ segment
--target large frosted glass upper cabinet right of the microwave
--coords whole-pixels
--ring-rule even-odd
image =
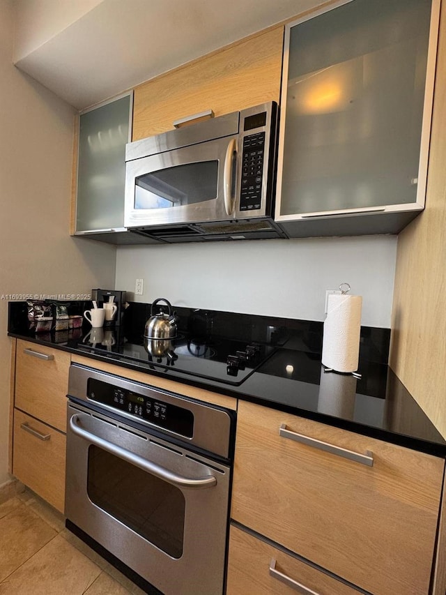
[[[439,0],[353,0],[285,29],[276,220],[397,233],[424,208]]]

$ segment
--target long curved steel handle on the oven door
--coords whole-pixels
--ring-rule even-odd
[[[151,473],[159,479],[164,479],[164,481],[177,485],[179,488],[194,488],[195,490],[200,490],[203,488],[212,488],[213,485],[216,485],[217,483],[217,479],[213,475],[207,475],[206,477],[201,477],[199,479],[192,479],[190,477],[184,477],[171,472],[169,469],[165,469],[164,467],[156,465],[156,463],[148,461],[139,455],[135,455],[126,449],[122,449],[121,446],[116,446],[116,444],[112,444],[112,442],[108,442],[99,436],[91,434],[91,432],[87,432],[83,428],[79,428],[79,421],[80,419],[77,414],[71,416],[70,418],[70,430],[75,435],[84,438],[84,440],[91,442],[91,444],[95,444],[95,446],[99,446],[108,453],[116,455],[122,460],[130,462],[131,465],[139,467],[139,469]]]

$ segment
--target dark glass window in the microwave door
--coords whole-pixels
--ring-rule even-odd
[[[217,199],[218,161],[199,161],[166,167],[139,176],[135,209],[169,209]]]

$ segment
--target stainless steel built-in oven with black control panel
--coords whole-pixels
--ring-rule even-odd
[[[66,517],[164,595],[222,595],[231,414],[72,364]]]

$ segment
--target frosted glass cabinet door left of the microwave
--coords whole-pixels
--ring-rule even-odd
[[[76,233],[123,229],[132,93],[80,116]]]

